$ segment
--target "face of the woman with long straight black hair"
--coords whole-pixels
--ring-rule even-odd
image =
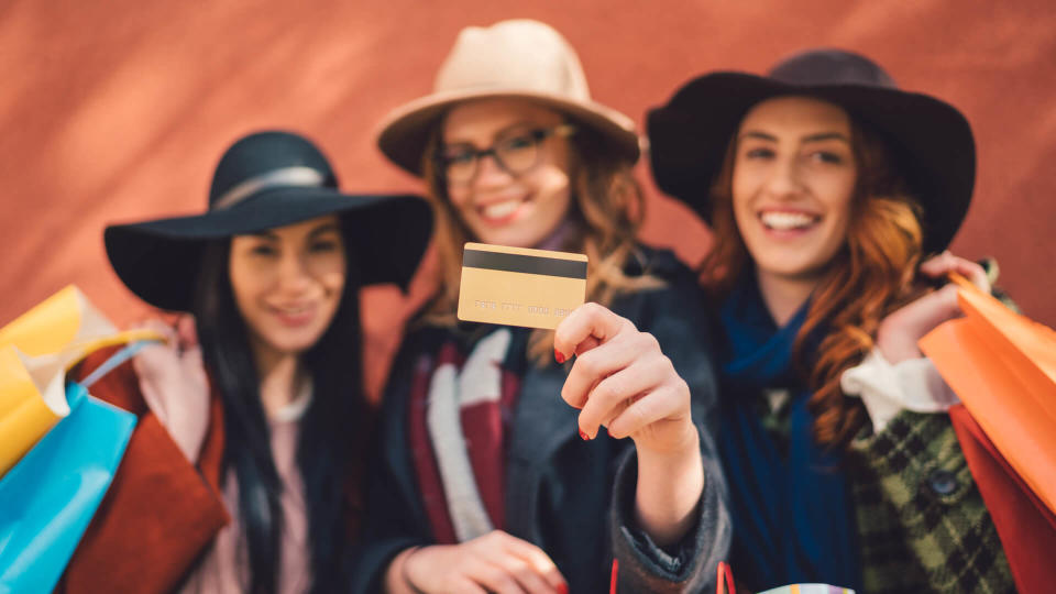
[[[231,239],[234,300],[257,353],[299,354],[329,328],[344,290],[336,215]]]

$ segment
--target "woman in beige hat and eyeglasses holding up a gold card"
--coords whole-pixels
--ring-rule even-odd
[[[506,21],[463,30],[378,143],[429,187],[440,283],[385,393],[355,591],[602,592],[614,558],[620,592],[712,583],[714,380],[684,323],[706,320],[694,276],[635,242],[632,123],[557,32]],[[585,253],[596,304],[556,334],[458,323],[466,241]]]

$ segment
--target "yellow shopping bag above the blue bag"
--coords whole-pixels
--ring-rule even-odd
[[[119,332],[74,286],[0,329],[0,476],[69,414],[67,370],[92,351],[138,340],[164,337]]]

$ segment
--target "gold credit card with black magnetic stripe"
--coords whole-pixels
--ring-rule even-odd
[[[586,256],[466,243],[459,319],[554,329],[586,298]]]

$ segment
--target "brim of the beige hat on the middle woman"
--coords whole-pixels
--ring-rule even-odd
[[[635,122],[594,101],[571,101],[554,95],[508,89],[477,89],[428,95],[396,108],[378,127],[377,145],[393,163],[421,177],[421,155],[440,118],[454,105],[479,99],[527,99],[564,113],[601,134],[630,163],[641,154]]]

